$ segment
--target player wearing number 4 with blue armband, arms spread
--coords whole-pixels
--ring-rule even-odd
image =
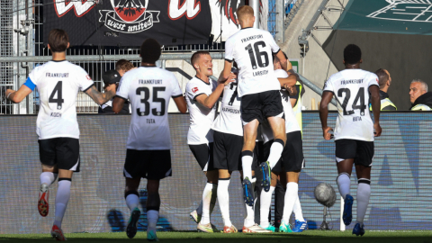
[[[49,185],[58,177],[56,212],[51,236],[64,241],[61,229],[67,202],[70,197],[72,174],[79,172],[79,129],[76,121],[76,95],[79,91],[88,94],[94,102],[102,104],[115,94],[115,85],[106,87],[101,94],[94,82],[82,67],[66,60],[69,47],[67,32],[53,29],[49,31],[48,48],[52,60],[35,67],[27,81],[18,91],[8,89],[6,97],[20,103],[37,87],[40,97],[40,111],[36,121],[39,136],[40,193],[38,209],[42,217],[49,212]]]

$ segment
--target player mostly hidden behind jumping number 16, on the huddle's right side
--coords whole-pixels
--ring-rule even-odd
[[[288,73],[282,69],[279,59],[275,57],[275,76],[278,78],[293,78],[295,83],[297,76],[293,72]],[[295,80],[294,80],[295,79]],[[277,177],[281,184],[285,187],[284,195],[284,214],[279,226],[280,232],[302,232],[307,229],[307,222],[302,217],[302,207],[299,200],[299,177],[302,167],[304,166],[303,148],[302,148],[302,131],[298,121],[295,119],[293,106],[291,103],[290,96],[294,95],[295,87],[285,87],[281,89],[280,93],[282,96],[282,103],[284,105],[285,113],[285,131],[286,131],[286,145],[282,153],[281,159],[277,162],[272,170],[272,181],[270,190],[261,192],[260,196],[260,226],[264,229],[275,231],[275,227],[270,225],[268,221],[268,213],[272,202],[272,193],[275,191],[277,183]],[[273,132],[268,124],[263,123],[261,126],[264,138],[264,154],[268,155],[270,152],[270,146],[273,143]],[[285,173],[284,173],[285,172]],[[296,208],[296,224],[291,229],[289,219],[293,212],[293,208]]]

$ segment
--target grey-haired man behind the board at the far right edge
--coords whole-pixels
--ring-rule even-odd
[[[428,84],[421,79],[414,79],[410,85],[411,111],[432,111],[432,92]]]

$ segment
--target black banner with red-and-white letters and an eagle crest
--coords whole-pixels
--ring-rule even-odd
[[[211,35],[208,0],[44,0],[43,12],[45,44],[54,28],[71,45],[204,44]]]

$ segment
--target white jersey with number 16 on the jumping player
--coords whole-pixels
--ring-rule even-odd
[[[281,89],[273,67],[273,54],[279,50],[268,31],[244,28],[229,37],[225,59],[237,62],[238,96]]]

